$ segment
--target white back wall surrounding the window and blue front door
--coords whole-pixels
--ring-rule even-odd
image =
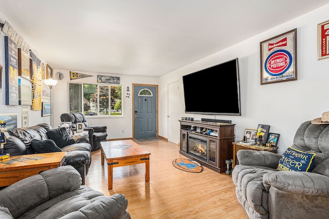
[[[57,85],[52,88],[53,91],[53,127],[58,126],[61,122],[61,114],[68,112],[68,83],[97,83],[97,75],[105,75],[95,72],[82,72],[75,71],[83,74],[93,75],[92,77],[85,77],[81,79],[74,79],[70,81],[69,70],[58,70],[54,69],[53,74],[57,72],[64,74],[64,79],[58,81]],[[127,75],[116,75],[111,76],[120,77],[120,85],[122,87],[122,109],[123,116],[120,117],[108,117],[108,116],[87,116],[87,122],[89,125],[106,125],[107,126],[107,138],[130,138],[133,136],[133,92],[132,84],[148,84],[157,85],[158,77],[143,77],[143,76],[127,76]],[[125,97],[127,87],[130,88],[130,97]],[[123,130],[123,132],[122,132]]]

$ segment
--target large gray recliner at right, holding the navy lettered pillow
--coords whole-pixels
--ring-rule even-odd
[[[291,148],[316,154],[311,172],[276,170],[281,154],[237,152],[232,180],[250,218],[328,218],[329,125],[302,123]]]

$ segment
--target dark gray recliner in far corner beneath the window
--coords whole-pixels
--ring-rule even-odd
[[[85,114],[81,112],[63,113],[61,115],[61,122],[72,122],[72,129],[77,130],[77,123],[83,123],[84,131],[88,131],[89,142],[92,145],[92,150],[99,149],[101,142],[106,142],[107,127],[106,126],[89,126]]]

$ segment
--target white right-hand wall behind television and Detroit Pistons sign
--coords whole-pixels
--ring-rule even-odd
[[[188,66],[177,69],[159,78],[159,135],[167,136],[167,85],[179,80],[182,75],[216,64],[239,58],[241,116],[185,114],[181,116],[232,120],[235,140],[242,139],[245,128],[256,129],[258,124],[270,125],[270,132],[281,134],[279,153],[293,143],[299,125],[329,111],[328,69],[329,58],[317,60],[317,24],[327,21],[329,5],[307,13],[292,21],[247,39],[230,48],[205,57]],[[260,42],[297,28],[297,81],[260,85]],[[225,34],[225,33],[223,33]],[[241,33],[243,34],[243,33]],[[197,51],[196,51],[197,52]],[[218,82],[221,85],[221,82]],[[205,88],[205,92],[206,92]],[[184,102],[182,90],[178,93]],[[215,99],[215,97],[214,97]]]

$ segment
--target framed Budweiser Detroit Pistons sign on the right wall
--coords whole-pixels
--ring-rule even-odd
[[[297,29],[261,42],[261,85],[297,80]]]

